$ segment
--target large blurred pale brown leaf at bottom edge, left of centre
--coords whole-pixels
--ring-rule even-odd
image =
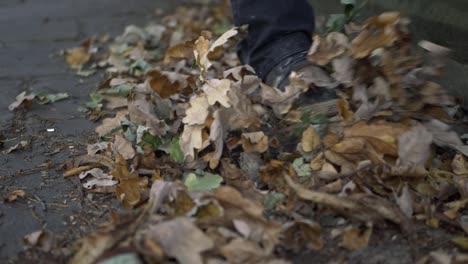
[[[214,241],[185,217],[152,226],[145,236],[181,264],[203,264],[200,254],[214,247]]]

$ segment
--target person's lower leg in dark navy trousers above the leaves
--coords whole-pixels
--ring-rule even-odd
[[[312,44],[314,12],[307,0],[231,0],[236,25],[249,25],[239,57],[266,79],[274,68],[305,60]]]

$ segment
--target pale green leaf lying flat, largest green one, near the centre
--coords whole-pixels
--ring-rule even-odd
[[[209,191],[221,186],[223,178],[217,174],[204,171],[191,172],[186,174],[184,184],[190,192]]]

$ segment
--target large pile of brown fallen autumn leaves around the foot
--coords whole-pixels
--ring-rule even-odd
[[[320,250],[324,237],[364,248],[388,224],[408,237],[416,224],[468,232],[468,147],[448,125],[457,106],[431,81],[445,48],[414,49],[408,21],[384,13],[314,36],[309,60],[322,70],[293,73],[280,91],[239,65],[245,29],[226,30],[226,17],[180,8],[127,27],[106,52],[97,47],[107,38],[66,52],[78,74],[110,77],[83,109],[104,118],[101,141],[65,176],[136,209],[85,237],[72,263],[122,252],[148,263],[287,263],[282,252]],[[315,87],[336,91],[336,115],[296,106]],[[326,215],[338,221],[324,234]],[[437,258],[450,260],[420,263]]]

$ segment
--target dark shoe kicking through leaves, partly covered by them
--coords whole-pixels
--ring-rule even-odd
[[[295,103],[295,108],[325,116],[338,113],[338,100],[334,89],[339,86],[339,83],[322,68],[308,61],[307,51],[283,60],[268,73],[265,83],[284,91],[289,84],[289,76],[292,72],[296,72],[303,80],[310,83],[309,90],[301,95]]]

